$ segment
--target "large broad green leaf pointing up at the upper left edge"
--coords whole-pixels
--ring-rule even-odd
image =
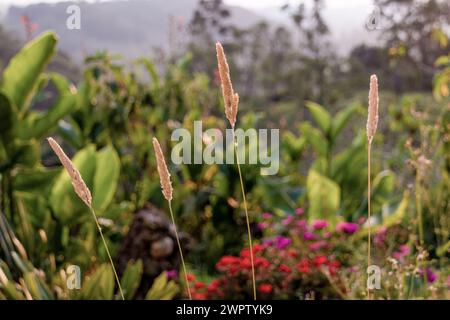
[[[57,38],[45,32],[26,44],[3,73],[2,91],[18,110],[25,110],[34,96],[41,73],[55,53]]]

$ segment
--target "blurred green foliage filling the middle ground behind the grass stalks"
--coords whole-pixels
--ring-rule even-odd
[[[114,255],[134,212],[148,202],[167,209],[151,137],[159,139],[169,159],[174,129],[185,128],[193,135],[196,120],[202,120],[204,131],[226,129],[215,73],[212,39],[217,34],[225,37],[234,86],[242,92],[239,128],[280,128],[281,133],[277,175],[261,176],[258,165],[242,166],[254,238],[262,236],[262,212],[286,218],[302,207],[309,222],[359,223],[361,230],[348,244],[363,241],[367,90],[357,89],[365,88],[372,70],[361,63],[359,55],[366,49],[352,53],[359,62],[349,61],[354,75],[349,80],[338,68],[339,61],[321,49],[327,32],[321,1],[314,2],[312,16],[302,7],[286,8],[305,44],[299,56],[283,27],[271,30],[259,24],[237,30],[216,21],[227,17],[221,1],[209,3],[212,7],[202,3],[191,26],[202,31],[197,34],[202,40],[190,47],[191,53],[169,60],[163,71],[147,58],[126,63],[99,52],[86,58],[82,78],[72,84],[46,71],[57,42],[51,32],[28,43],[5,66],[0,84],[0,298],[117,298],[95,225],[67,173],[55,167],[58,162],[45,137],[57,137],[92,190],[93,206]],[[433,35],[447,45],[442,34]],[[262,40],[270,45],[262,45]],[[383,55],[385,49],[369,51],[388,73],[395,68]],[[372,160],[373,226],[411,226],[411,241],[420,243],[445,269],[450,210],[448,56],[435,63],[437,100],[429,93],[381,92]],[[359,81],[362,75],[364,81]],[[341,79],[348,81],[341,86]],[[353,82],[360,84],[351,96],[341,96]],[[45,108],[37,107],[41,103]],[[246,150],[247,155],[251,152]],[[237,167],[169,161],[169,170],[176,220],[192,237],[188,264],[195,272],[214,275],[215,263],[225,254],[238,254],[246,236]],[[69,265],[83,271],[80,290],[66,286]],[[137,290],[142,269],[142,262],[130,262],[122,275],[128,299]],[[163,273],[146,298],[181,297],[179,285]]]

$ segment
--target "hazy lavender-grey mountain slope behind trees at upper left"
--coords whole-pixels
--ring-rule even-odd
[[[12,6],[5,17],[9,30],[23,34],[20,17],[27,15],[38,24],[38,31],[53,29],[60,37],[60,48],[80,62],[85,53],[108,50],[127,58],[148,55],[152,48],[176,47],[185,38],[183,26],[189,22],[198,0],[116,0],[97,3],[59,2]],[[81,29],[69,30],[66,9],[81,9]],[[230,21],[250,26],[261,16],[240,7],[229,7]]]

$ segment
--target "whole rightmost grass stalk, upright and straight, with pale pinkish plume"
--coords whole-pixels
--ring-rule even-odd
[[[378,79],[376,75],[370,76],[370,89],[369,89],[369,108],[367,116],[367,268],[372,264],[371,261],[371,198],[372,198],[372,186],[371,186],[371,151],[372,141],[377,131],[378,125]],[[370,299],[370,288],[367,285],[367,298]]]

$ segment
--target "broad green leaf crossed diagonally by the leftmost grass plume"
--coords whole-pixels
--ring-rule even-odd
[[[75,167],[89,188],[93,184],[96,162],[94,145],[87,146],[73,157]],[[71,179],[66,170],[62,170],[56,178],[50,194],[50,204],[55,216],[63,223],[74,222],[90,215],[89,209],[73,190]]]

